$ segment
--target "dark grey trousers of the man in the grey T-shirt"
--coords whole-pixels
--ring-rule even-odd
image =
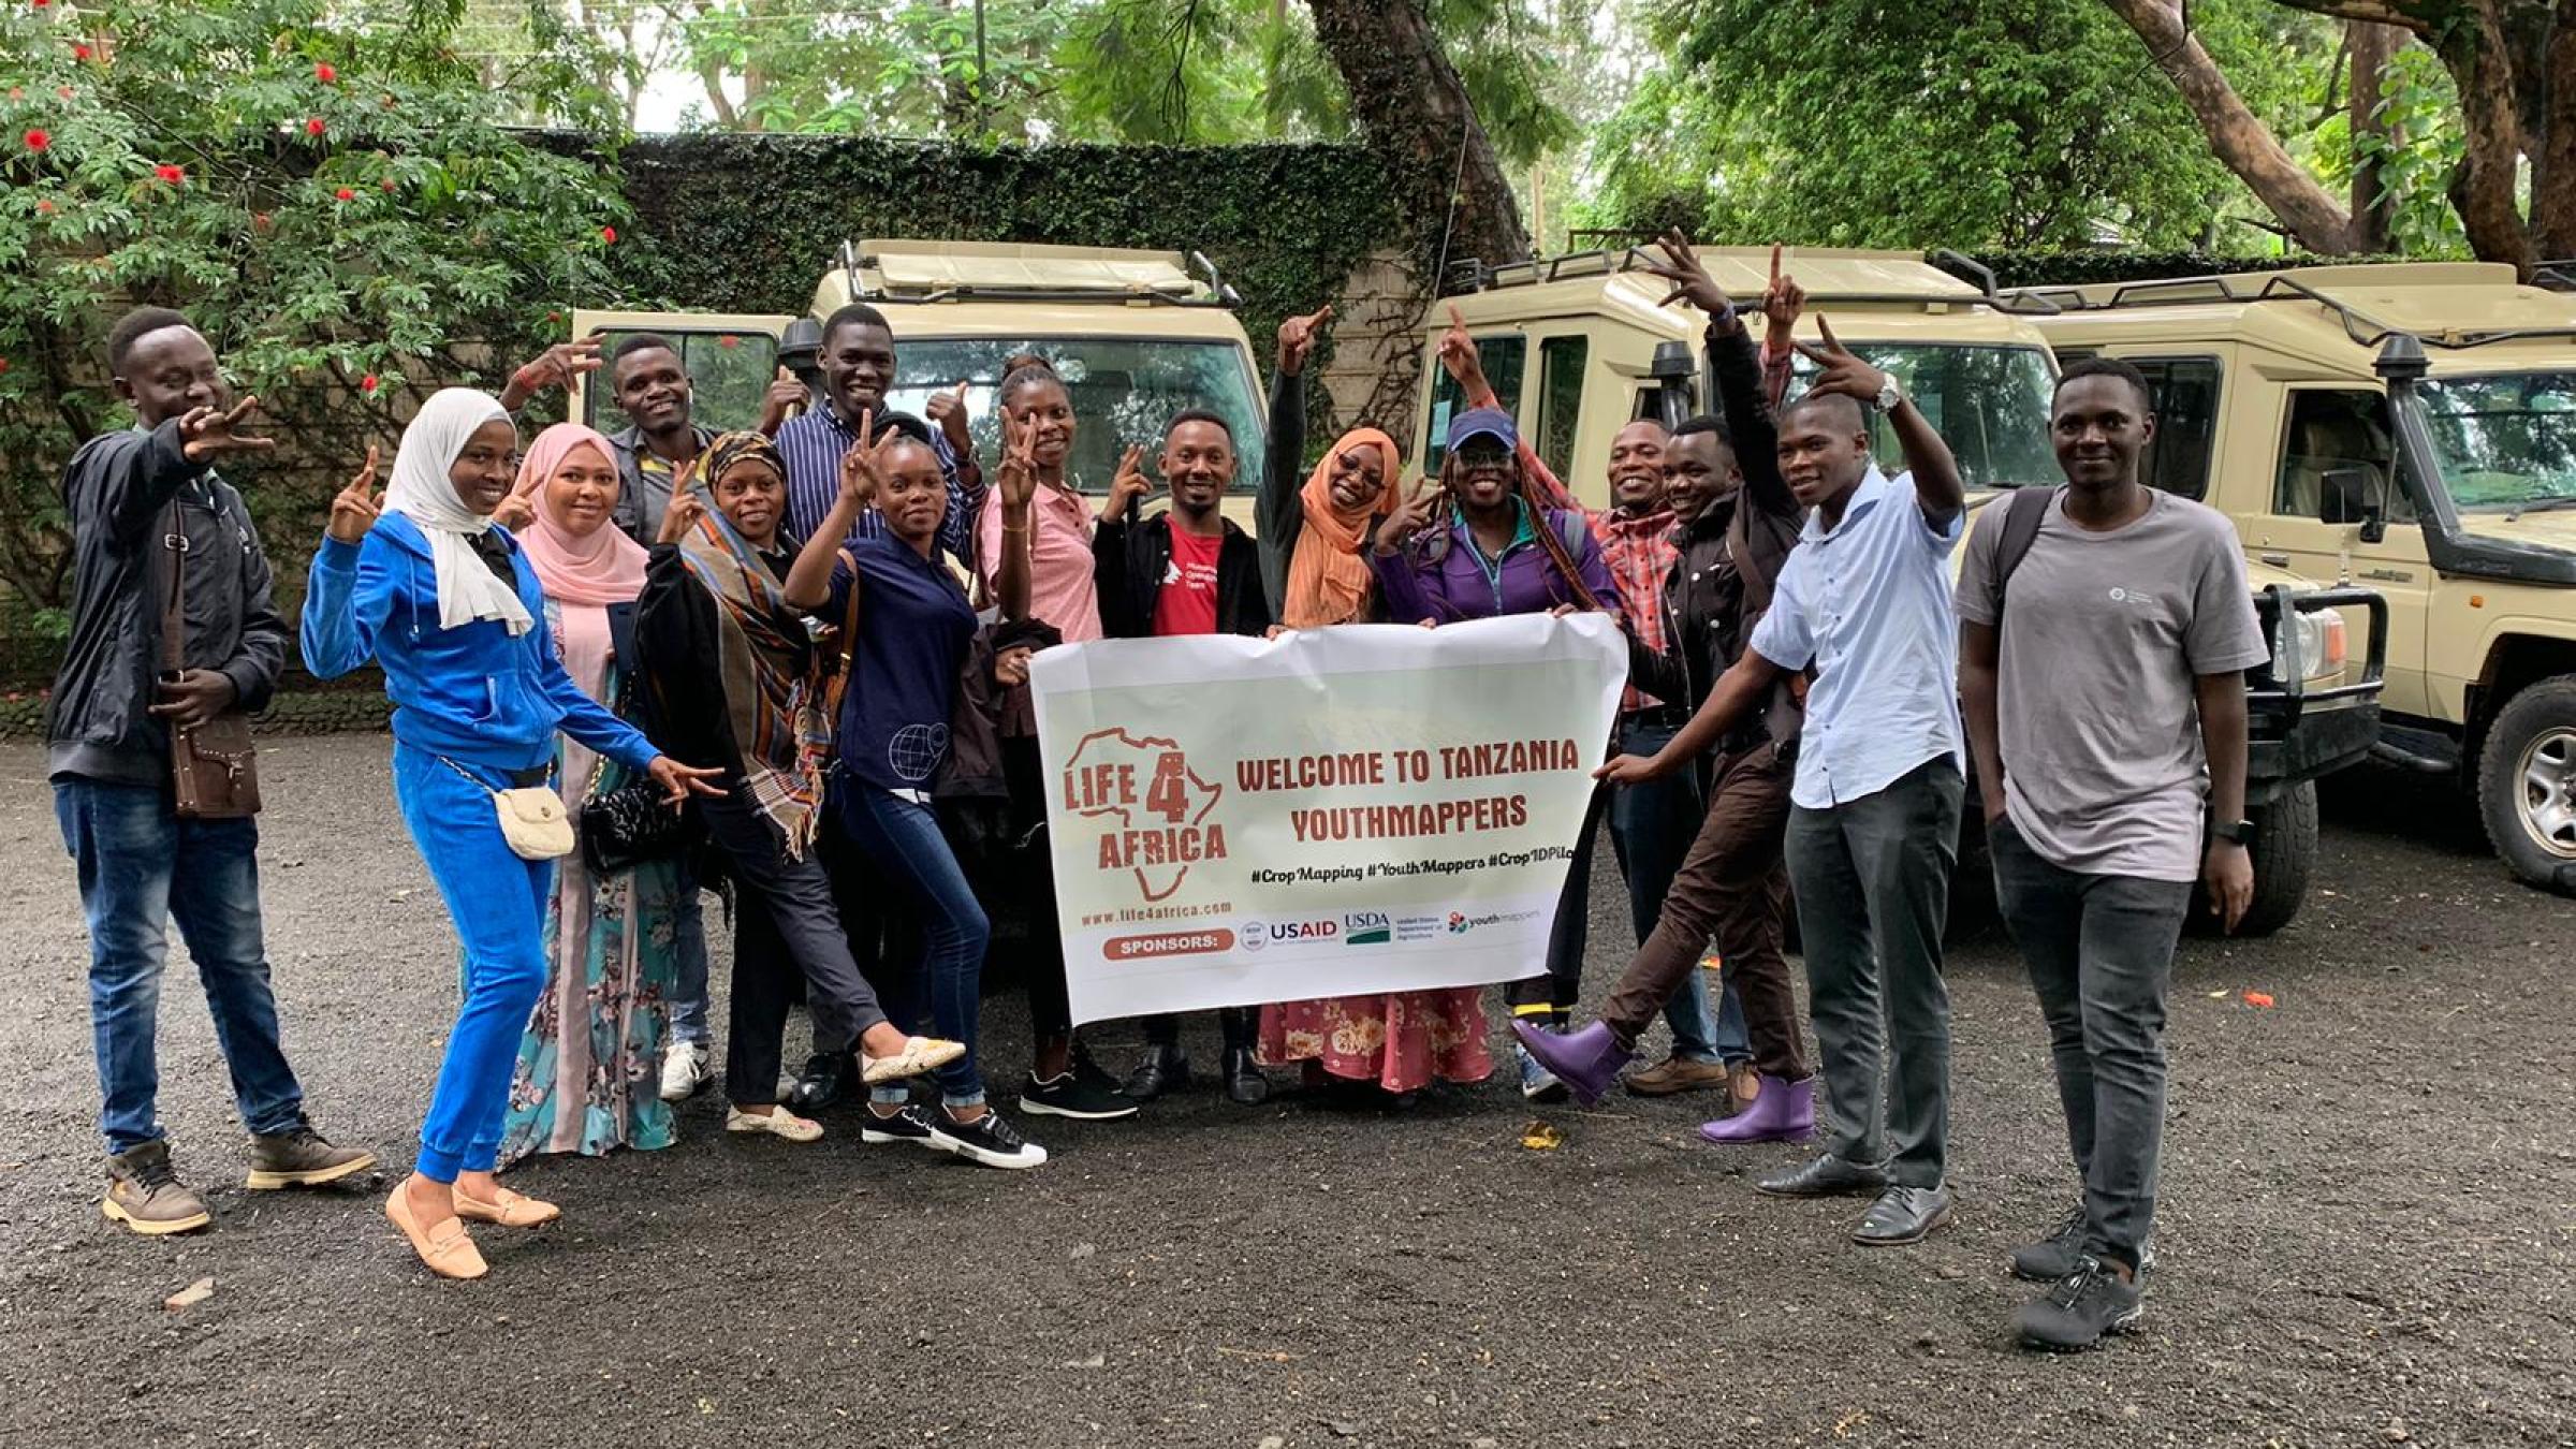
[[[1994,900],[2048,1018],[2066,1142],[2084,1173],[2084,1250],[2136,1269],[2156,1222],[2164,995],[2192,884],[2061,869],[2009,820],[1986,838]]]

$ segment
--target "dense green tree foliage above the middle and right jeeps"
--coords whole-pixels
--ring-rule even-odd
[[[2202,0],[2287,126],[2324,26],[2262,0]],[[2244,191],[2190,111],[2138,85],[2097,0],[1669,0],[1669,62],[1595,137],[1610,224],[1690,222],[1728,240],[2081,248],[2102,235],[2215,240]]]

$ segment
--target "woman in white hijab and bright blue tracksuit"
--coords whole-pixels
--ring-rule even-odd
[[[376,498],[376,451],[332,500],[304,596],[304,663],[337,678],[376,660],[394,701],[394,799],[464,944],[464,1008],[420,1127],[420,1160],[384,1212],[433,1274],[479,1279],[464,1220],[536,1227],[549,1201],[492,1181],[520,1029],[546,985],[544,915],[569,841],[505,835],[564,732],[649,773],[677,807],[708,792],[564,673],[544,590],[518,541],[492,523],[518,477],[518,431],[500,402],[461,387],[428,400],[402,433],[394,485]],[[559,810],[559,804],[556,804]]]

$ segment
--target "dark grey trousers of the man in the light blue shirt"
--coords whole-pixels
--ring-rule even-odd
[[[1847,1163],[1886,1163],[1899,1186],[1940,1186],[1950,1147],[1940,933],[1950,920],[1960,797],[1958,763],[1940,755],[1875,794],[1829,810],[1795,804],[1788,815],[1808,1021],[1832,1114],[1826,1150]]]

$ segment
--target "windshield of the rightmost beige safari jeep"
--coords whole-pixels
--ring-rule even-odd
[[[2576,508],[2576,371],[2427,376],[2414,394],[2460,511]]]

